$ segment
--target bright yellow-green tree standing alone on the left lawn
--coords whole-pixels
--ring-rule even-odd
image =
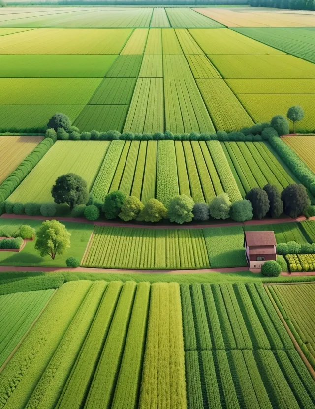
[[[35,249],[41,257],[49,255],[53,260],[70,247],[70,233],[58,220],[46,220],[36,232]]]

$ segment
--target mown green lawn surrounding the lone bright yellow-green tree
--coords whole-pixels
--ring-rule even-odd
[[[30,219],[0,219],[0,228],[5,229],[16,226],[18,229],[22,224],[27,224],[38,229],[42,221]],[[70,236],[70,248],[63,255],[56,255],[55,260],[50,256],[41,257],[38,250],[35,250],[36,240],[27,241],[24,249],[19,253],[1,251],[0,264],[10,266],[41,266],[41,267],[66,267],[68,257],[76,257],[81,260],[86,249],[94,226],[87,223],[61,222],[65,225]]]

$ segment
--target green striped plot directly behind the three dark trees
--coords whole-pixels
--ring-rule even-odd
[[[248,192],[253,187],[263,188],[267,183],[283,190],[295,183],[264,142],[224,142],[234,170]]]

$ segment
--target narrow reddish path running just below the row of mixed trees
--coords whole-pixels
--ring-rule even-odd
[[[251,225],[264,225],[264,224],[279,224],[279,223],[294,223],[303,222],[307,220],[305,216],[299,216],[296,219],[291,217],[284,217],[280,219],[263,219],[263,220],[248,220],[246,222],[228,222],[228,223],[186,223],[186,224],[154,224],[154,223],[126,223],[119,221],[90,221],[84,218],[74,218],[74,217],[44,217],[44,216],[27,216],[26,214],[7,214],[4,213],[0,216],[1,219],[24,219],[24,220],[59,220],[61,222],[72,222],[72,223],[88,223],[95,226],[108,226],[108,227],[134,227],[141,229],[207,229],[215,227],[232,227],[232,226],[251,226]],[[315,220],[315,217],[311,220]]]

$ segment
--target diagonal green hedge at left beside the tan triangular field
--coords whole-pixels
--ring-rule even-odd
[[[0,185],[0,202],[6,200],[19,186],[23,179],[32,171],[40,159],[54,145],[50,138],[41,141],[32,152],[20,163],[20,165]]]

